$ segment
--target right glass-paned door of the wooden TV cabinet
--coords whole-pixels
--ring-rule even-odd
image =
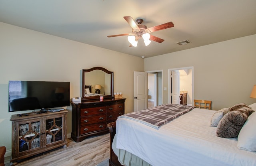
[[[63,140],[62,123],[62,117],[46,119],[46,145]]]

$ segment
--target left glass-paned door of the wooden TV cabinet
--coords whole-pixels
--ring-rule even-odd
[[[18,123],[19,150],[23,152],[40,148],[40,120],[27,123]]]

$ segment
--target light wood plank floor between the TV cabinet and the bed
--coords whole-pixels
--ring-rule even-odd
[[[81,142],[74,142],[69,138],[67,148],[45,152],[16,166],[96,166],[109,159],[109,141],[109,134],[86,138]],[[10,161],[10,157],[5,160]],[[10,166],[10,162],[5,166]]]

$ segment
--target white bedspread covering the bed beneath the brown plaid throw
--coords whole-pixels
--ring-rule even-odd
[[[216,136],[209,126],[214,112],[196,108],[158,129],[118,117],[116,147],[153,166],[256,166],[256,152]]]

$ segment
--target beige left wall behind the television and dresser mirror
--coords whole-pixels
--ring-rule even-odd
[[[70,81],[70,98],[80,97],[81,69],[96,66],[114,71],[114,91],[122,92],[125,112],[132,112],[134,71],[144,71],[144,59],[0,22],[0,146],[6,146],[6,154],[11,150],[9,119],[20,113],[8,113],[9,80]],[[72,109],[67,109],[70,134]]]

